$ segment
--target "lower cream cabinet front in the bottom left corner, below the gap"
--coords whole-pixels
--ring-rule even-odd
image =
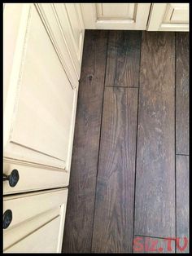
[[[4,253],[61,252],[67,199],[67,188],[4,196]]]

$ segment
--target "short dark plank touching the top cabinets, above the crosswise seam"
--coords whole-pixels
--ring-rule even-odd
[[[106,86],[138,86],[141,31],[110,31]]]

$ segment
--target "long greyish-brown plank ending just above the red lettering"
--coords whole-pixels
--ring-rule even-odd
[[[143,32],[135,234],[175,236],[175,33]]]

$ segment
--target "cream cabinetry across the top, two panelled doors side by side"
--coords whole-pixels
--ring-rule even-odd
[[[85,29],[189,31],[189,3],[81,3]]]

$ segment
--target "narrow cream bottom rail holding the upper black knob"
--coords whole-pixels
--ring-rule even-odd
[[[3,182],[3,195],[31,192],[34,190],[68,187],[69,172],[48,166],[28,166],[20,161],[4,161],[3,174],[10,175],[12,170],[18,170],[19,180],[15,187],[9,181]]]

